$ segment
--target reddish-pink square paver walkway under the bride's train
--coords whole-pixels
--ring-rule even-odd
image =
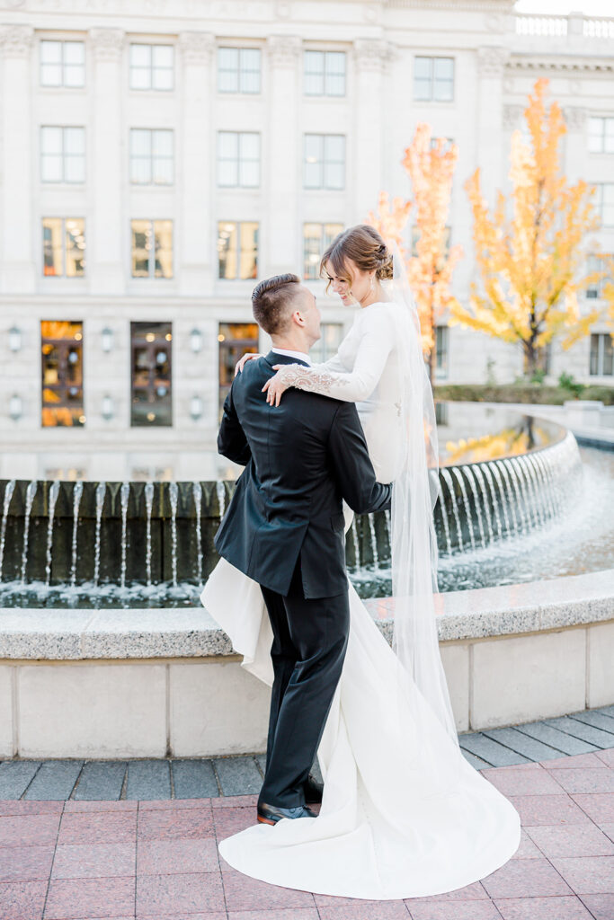
[[[483,775],[521,815],[516,856],[468,888],[394,902],[277,888],[228,867],[217,841],[254,821],[256,795],[3,799],[0,918],[612,920],[614,748]]]

